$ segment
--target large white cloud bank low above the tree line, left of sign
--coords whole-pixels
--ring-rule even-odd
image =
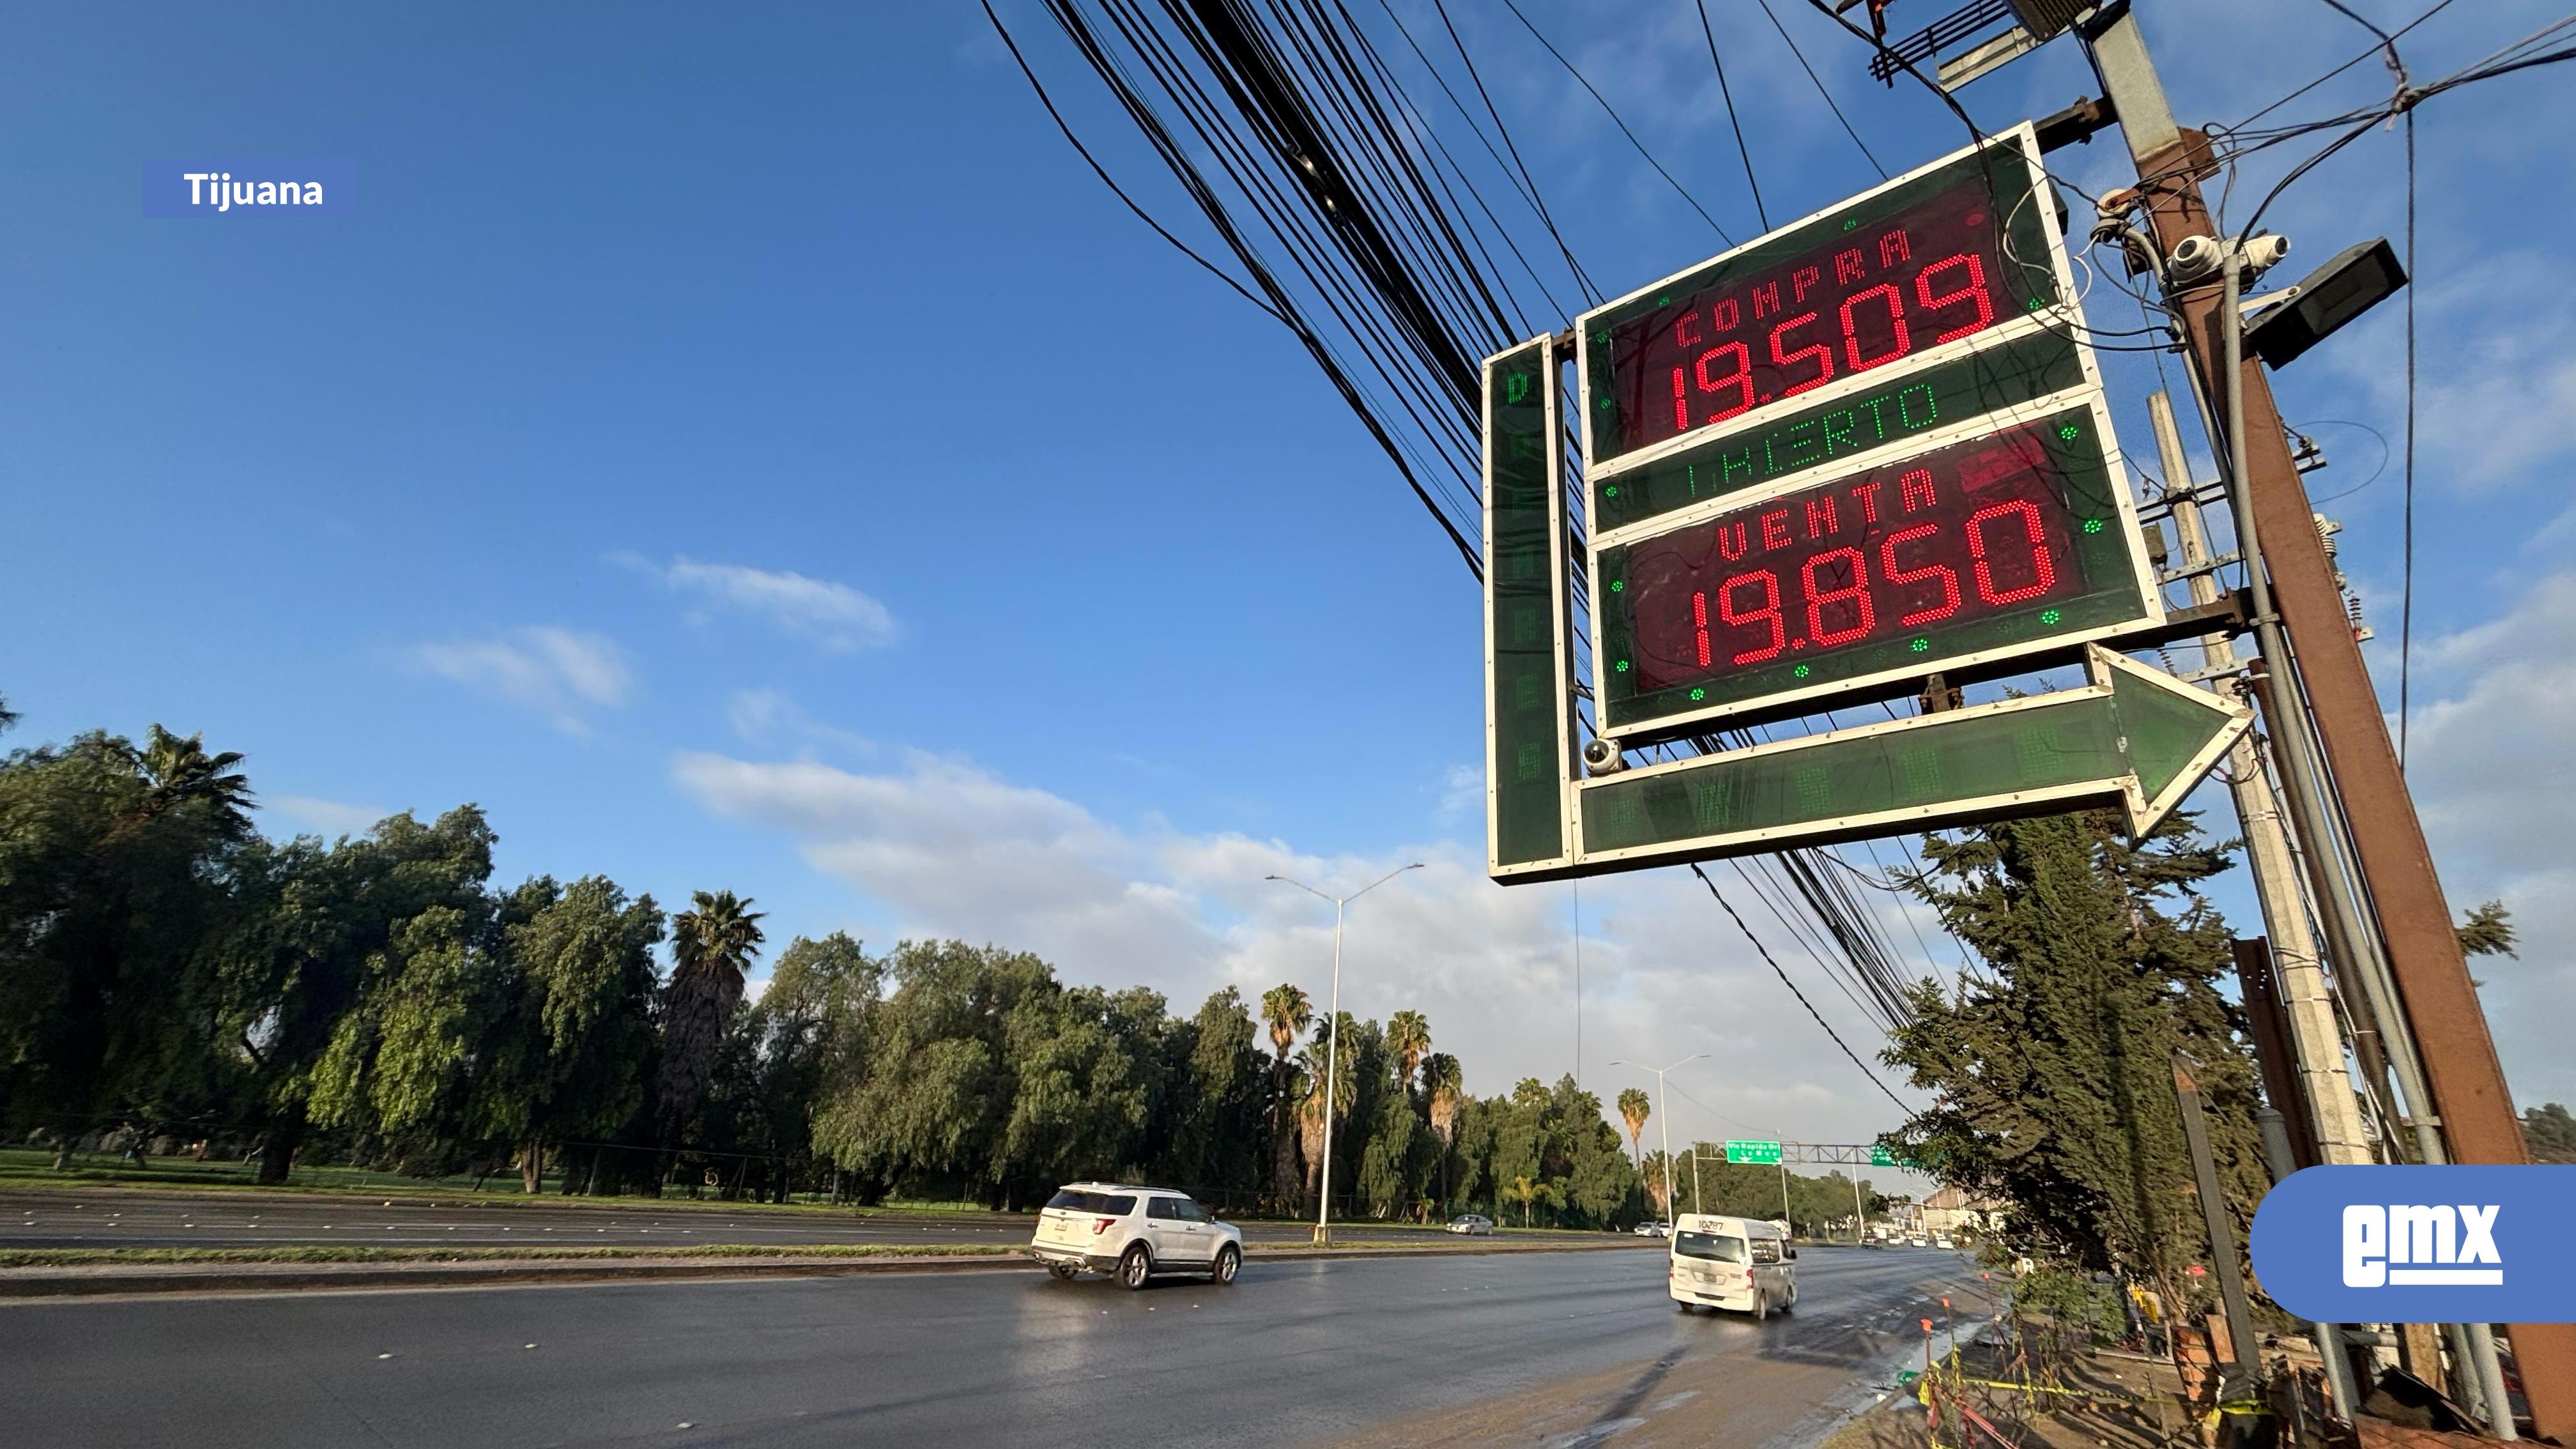
[[[1190,835],[1159,820],[1121,828],[1051,792],[922,750],[876,773],[683,753],[672,773],[706,810],[791,835],[817,871],[876,902],[891,915],[891,931],[871,931],[876,938],[1020,946],[1072,980],[1151,985],[1175,1011],[1193,1011],[1229,982],[1257,998],[1280,980],[1303,985],[1321,1008],[1332,990],[1332,908],[1262,877],[1355,890],[1427,861],[1350,908],[1342,1008],[1373,1018],[1425,1011],[1476,1093],[1574,1067],[1571,890],[1497,887],[1473,841],[1309,856],[1280,841]],[[1582,1080],[1605,1101],[1649,1080],[1610,1067],[1615,1057],[1708,1052],[1674,1085],[1734,1122],[1674,1096],[1677,1134],[1777,1127],[1865,1142],[1896,1124],[1886,1098],[1695,879],[1656,871],[1587,882],[1582,905]],[[1816,967],[1785,938],[1772,949],[1844,1039],[1873,1052],[1878,1036]]]

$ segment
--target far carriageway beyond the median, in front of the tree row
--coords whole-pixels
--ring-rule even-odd
[[[685,1243],[989,1243],[1023,1245],[1036,1217],[1007,1212],[860,1214],[726,1209],[613,1199],[371,1199],[180,1191],[0,1191],[0,1248],[665,1248]],[[1249,1243],[1306,1243],[1303,1222],[1244,1222]],[[1345,1238],[1445,1240],[1430,1227],[1363,1222]]]

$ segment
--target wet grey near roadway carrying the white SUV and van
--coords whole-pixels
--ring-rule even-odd
[[[1651,1253],[0,1305],[10,1444],[1790,1446],[1922,1351],[1950,1253],[1808,1250],[1795,1315]]]

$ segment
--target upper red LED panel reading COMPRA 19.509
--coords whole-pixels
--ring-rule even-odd
[[[2040,211],[2007,137],[1587,315],[1592,459],[1731,423],[2048,307],[2058,289]]]

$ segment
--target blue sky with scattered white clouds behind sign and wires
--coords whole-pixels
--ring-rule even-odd
[[[1453,10],[1605,286],[1721,248],[1517,23]],[[1757,229],[1687,5],[1528,10]],[[1710,10],[1770,214],[1870,186],[1759,10]],[[1790,10],[1891,168],[1960,142]],[[2141,10],[2184,121],[2367,44],[2313,0]],[[1005,15],[1113,170],[1203,235],[1043,13]],[[2460,5],[2406,52],[2434,75],[2553,18]],[[2221,21],[2226,49],[2182,49]],[[1350,887],[1425,859],[1352,913],[1345,1006],[1422,1006],[1476,1091],[1574,1065],[1569,890],[1486,884],[1463,807],[1466,572],[1303,351],[1079,165],[979,8],[54,8],[0,39],[13,743],[204,730],[250,753],[278,833],[471,799],[507,879],[732,887],[781,944],[994,938],[1180,1008],[1224,982],[1321,993],[1311,900],[1262,874]],[[2419,121],[2414,779],[2452,900],[2524,923],[2481,977],[2527,1101],[2576,1098],[2535,1026],[2576,1008],[2563,75]],[[2285,113],[2383,90],[2365,62]],[[1999,126],[2079,93],[2061,44],[1968,103]],[[147,219],[139,162],[167,155],[350,157],[358,206]],[[2115,137],[2053,165],[2125,180]],[[2285,193],[2287,276],[2401,237],[2401,175],[2375,134]],[[2107,286],[2092,307],[2138,325]],[[2385,307],[2280,376],[2334,462],[2321,498],[2380,459],[2331,420],[2401,438],[2398,345]],[[2107,371],[2141,451],[2154,369]],[[2398,505],[2396,464],[2329,505],[2391,706]],[[1584,892],[1587,1085],[1625,1085],[1610,1057],[1710,1052],[1677,1127],[1888,1127],[1721,923],[1669,871]]]

